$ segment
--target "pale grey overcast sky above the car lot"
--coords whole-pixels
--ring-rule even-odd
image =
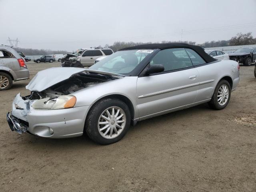
[[[256,0],[0,0],[0,44],[77,50],[115,41],[256,37]]]

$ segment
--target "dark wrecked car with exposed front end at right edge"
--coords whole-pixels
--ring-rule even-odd
[[[228,55],[230,60],[250,66],[256,60],[256,48],[240,48]]]

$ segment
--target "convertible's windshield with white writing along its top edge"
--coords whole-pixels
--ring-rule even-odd
[[[118,73],[122,75],[130,75],[147,56],[152,54],[154,50],[124,50],[118,51],[96,64],[89,67],[91,70],[99,70],[104,72]]]

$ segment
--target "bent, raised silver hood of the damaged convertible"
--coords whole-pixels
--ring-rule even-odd
[[[41,92],[50,86],[53,86],[54,84],[57,84],[58,82],[62,82],[70,76],[80,73],[80,72],[94,72],[98,74],[107,74],[111,76],[118,76],[122,77],[123,75],[116,74],[116,73],[110,73],[110,72],[103,72],[103,71],[97,71],[97,70],[90,70],[90,69],[84,69],[84,68],[75,68],[75,67],[54,67],[49,68],[46,70],[39,71],[36,76],[32,78],[32,80],[29,82],[29,84],[26,86],[26,89],[30,91],[38,91]]]

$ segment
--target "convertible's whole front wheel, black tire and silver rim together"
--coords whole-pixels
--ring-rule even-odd
[[[87,135],[95,142],[107,145],[119,141],[130,127],[128,106],[119,99],[104,99],[92,106],[85,124]]]

